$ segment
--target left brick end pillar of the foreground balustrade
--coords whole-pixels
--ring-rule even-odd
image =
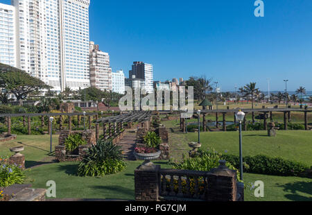
[[[158,201],[160,165],[144,162],[135,169],[135,200]]]

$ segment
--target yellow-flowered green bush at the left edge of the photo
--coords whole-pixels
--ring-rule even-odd
[[[0,187],[8,187],[12,184],[23,184],[24,172],[21,166],[8,164],[7,159],[0,158]]]

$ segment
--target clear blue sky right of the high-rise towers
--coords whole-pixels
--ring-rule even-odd
[[[113,71],[133,61],[154,66],[154,79],[202,76],[223,91],[257,82],[266,91],[312,90],[312,1],[91,0],[90,40],[110,53]],[[2,3],[10,1],[0,0]]]

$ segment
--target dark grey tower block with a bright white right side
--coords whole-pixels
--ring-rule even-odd
[[[129,78],[144,79],[146,92],[153,92],[153,65],[144,62],[133,62],[132,70],[129,71]]]

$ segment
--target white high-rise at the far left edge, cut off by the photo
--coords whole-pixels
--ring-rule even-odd
[[[0,63],[16,67],[15,7],[0,3]]]

